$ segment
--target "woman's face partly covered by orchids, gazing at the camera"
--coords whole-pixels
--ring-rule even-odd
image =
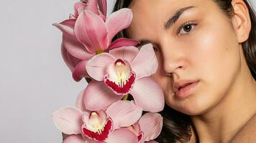
[[[153,78],[165,102],[185,114],[203,114],[232,90],[241,45],[232,22],[211,0],[136,0],[130,38],[152,43],[159,61]]]

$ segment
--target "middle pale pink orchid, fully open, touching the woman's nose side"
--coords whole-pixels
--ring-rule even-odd
[[[84,92],[87,109],[98,110],[132,94],[137,106],[148,112],[160,112],[164,107],[163,91],[150,75],[157,71],[157,58],[152,44],[137,49],[124,46],[109,53],[93,56],[86,64],[92,81]],[[99,104],[98,107],[94,106]]]

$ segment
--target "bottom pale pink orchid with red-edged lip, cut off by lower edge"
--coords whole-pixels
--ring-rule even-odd
[[[97,112],[64,107],[52,113],[55,126],[65,134],[73,134],[64,142],[131,142],[137,137],[128,127],[137,122],[142,110],[133,102],[119,101]],[[121,129],[120,129],[121,128]]]

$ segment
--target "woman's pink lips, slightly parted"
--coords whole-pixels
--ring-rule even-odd
[[[183,80],[173,84],[175,96],[184,99],[193,94],[193,89],[198,85],[198,80]],[[185,86],[185,87],[184,87]]]

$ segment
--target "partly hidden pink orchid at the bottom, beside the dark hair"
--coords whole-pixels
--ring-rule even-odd
[[[159,136],[163,127],[163,117],[158,113],[146,113],[139,122],[136,122],[130,127],[127,127],[134,134],[136,134],[139,143],[155,142],[155,139]]]

